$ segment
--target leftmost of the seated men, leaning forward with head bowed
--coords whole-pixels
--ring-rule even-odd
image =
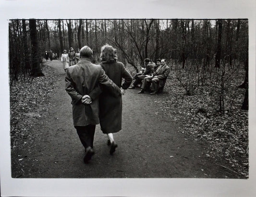
[[[148,58],[146,58],[144,60],[144,62],[146,65],[146,70],[144,71],[144,73],[142,75],[138,76],[136,74],[135,75],[136,77],[134,76],[135,81],[134,81],[133,85],[131,87],[129,87],[130,89],[136,88],[147,75],[151,76],[153,74],[156,64],[154,62],[151,62],[150,59],[148,59]]]

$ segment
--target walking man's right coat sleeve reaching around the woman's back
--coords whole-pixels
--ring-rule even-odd
[[[113,96],[118,97],[121,94],[121,89],[105,74],[102,68],[100,68],[99,83],[108,89]]]

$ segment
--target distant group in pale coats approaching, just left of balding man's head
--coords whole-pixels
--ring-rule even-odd
[[[64,50],[63,54],[61,55],[61,62],[63,64],[63,68],[65,72],[69,66],[76,65],[79,60],[80,60],[80,49],[77,49],[75,53],[73,47],[70,47],[68,54],[67,54],[67,50]]]

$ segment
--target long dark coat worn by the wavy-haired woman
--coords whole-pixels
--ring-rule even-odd
[[[125,69],[122,62],[101,64],[108,77],[118,86],[127,89],[133,77]],[[124,82],[122,83],[122,79]],[[103,133],[114,133],[122,130],[122,95],[113,97],[107,89],[103,89],[99,97],[99,121]]]

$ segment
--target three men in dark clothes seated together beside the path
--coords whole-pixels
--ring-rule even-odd
[[[170,67],[166,64],[166,59],[157,59],[155,64],[149,58],[144,60],[146,68],[134,75],[134,83],[130,89],[141,86],[139,94],[149,90],[150,95],[155,95],[162,90],[166,79],[170,74]],[[150,88],[151,85],[151,88]]]

